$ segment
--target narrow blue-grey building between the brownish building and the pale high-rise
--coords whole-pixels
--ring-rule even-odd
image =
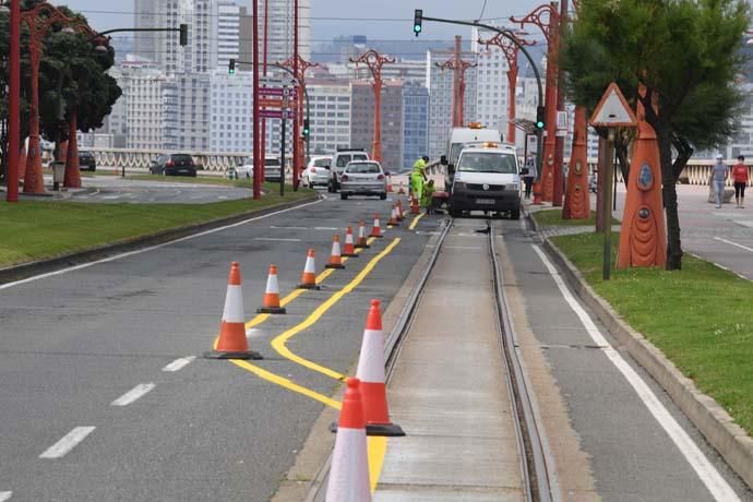
[[[410,168],[427,155],[429,146],[429,89],[422,84],[406,82],[403,86],[403,164]]]

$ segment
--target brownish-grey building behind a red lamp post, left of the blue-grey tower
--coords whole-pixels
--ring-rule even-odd
[[[386,171],[395,171],[403,165],[403,81],[385,81],[380,100],[382,167]],[[370,82],[350,83],[350,146],[371,152],[374,91]]]

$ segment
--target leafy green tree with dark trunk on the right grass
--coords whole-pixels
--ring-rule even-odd
[[[565,38],[571,99],[593,110],[617,82],[632,104],[643,101],[657,133],[668,268],[680,268],[682,255],[674,183],[694,148],[722,145],[738,127],[738,49],[749,23],[744,0],[579,0]]]

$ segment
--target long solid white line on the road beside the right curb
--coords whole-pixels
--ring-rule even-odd
[[[674,418],[667,411],[667,408],[661,404],[661,402],[656,397],[652,390],[646,385],[641,376],[633,370],[633,368],[625,362],[625,360],[620,356],[620,354],[614,350],[614,348],[609,345],[609,342],[601,335],[599,330],[594,324],[594,321],[588,316],[581,304],[575,300],[573,295],[570,292],[565,286],[562,277],[554,268],[554,265],[547,259],[543,251],[538,246],[534,246],[534,251],[539,255],[543,265],[551,274],[557,287],[560,288],[562,296],[565,301],[573,309],[573,312],[578,316],[581,323],[586,328],[590,335],[594,343],[600,347],[603,354],[609,358],[609,360],[614,364],[614,367],[622,373],[628,383],[635,390],[641,401],[643,401],[646,408],[654,416],[656,421],[659,422],[661,428],[667,432],[672,442],[677,445],[680,453],[685,457],[688,463],[693,467],[693,470],[698,475],[701,481],[706,486],[708,491],[712,493],[714,499],[718,502],[739,502],[737,493],[730,488],[725,478],[721,477],[718,470],[708,462],[708,458],[703,454],[701,449],[693,442],[693,440],[688,435],[688,433],[680,427],[680,425],[674,420]]]

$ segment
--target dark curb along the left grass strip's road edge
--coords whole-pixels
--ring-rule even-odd
[[[0,284],[13,283],[15,280],[22,280],[34,275],[53,272],[60,268],[65,268],[81,263],[92,262],[95,260],[100,260],[107,256],[111,256],[113,254],[134,251],[136,249],[147,248],[150,246],[163,244],[165,242],[180,239],[182,237],[188,237],[193,234],[199,234],[204,230],[211,230],[214,228],[223,227],[225,225],[239,223],[244,219],[264,216],[266,214],[274,213],[277,211],[297,207],[299,205],[308,204],[319,199],[320,195],[314,194],[310,198],[301,199],[299,201],[287,202],[284,204],[278,204],[255,211],[249,211],[232,216],[224,216],[222,218],[212,219],[210,222],[187,225],[183,227],[162,230],[157,234],[151,234],[148,236],[128,239],[123,242],[118,242],[113,244],[103,244],[95,248],[86,249],[84,251],[76,251],[46,260],[22,263],[20,265],[0,268]]]

